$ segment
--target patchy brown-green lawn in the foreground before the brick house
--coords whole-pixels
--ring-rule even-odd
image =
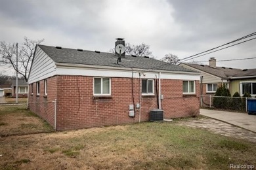
[[[0,138],[0,169],[229,169],[256,146],[203,129],[146,122]]]

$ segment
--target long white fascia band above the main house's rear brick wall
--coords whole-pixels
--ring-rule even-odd
[[[88,66],[88,65],[87,65]],[[104,77],[125,77],[139,78],[139,73],[141,78],[158,78],[159,73],[161,72],[161,78],[164,79],[178,79],[178,80],[200,80],[199,74],[191,74],[187,72],[178,72],[175,73],[170,71],[142,71],[143,69],[129,69],[129,68],[109,68],[109,67],[72,67],[70,65],[57,65],[56,66],[56,75],[80,75],[80,76],[104,76]],[[133,75],[132,75],[133,73]]]

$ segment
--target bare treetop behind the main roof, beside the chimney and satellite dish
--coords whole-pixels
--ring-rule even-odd
[[[108,52],[115,53],[114,48],[111,48]],[[144,44],[143,42],[139,45],[133,45],[129,42],[125,43],[125,54],[127,55],[135,55],[135,56],[149,56],[153,58],[152,52],[150,51],[150,46]]]

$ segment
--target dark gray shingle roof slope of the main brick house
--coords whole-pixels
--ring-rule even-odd
[[[93,51],[83,50],[78,51],[76,49],[62,48],[57,49],[54,46],[38,45],[50,58],[56,63],[74,63],[83,65],[103,65],[111,67],[129,67],[129,68],[139,68],[139,69],[158,69],[167,71],[186,71],[194,72],[190,69],[184,67],[173,65],[170,63],[165,63],[163,61],[143,58],[143,57],[133,57],[125,55],[125,58],[121,59],[121,63],[116,64],[117,56],[112,53],[100,52],[96,53]]]

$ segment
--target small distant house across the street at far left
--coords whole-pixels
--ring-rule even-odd
[[[16,97],[16,80],[12,80],[12,97]],[[28,83],[18,80],[18,97],[28,97]]]

